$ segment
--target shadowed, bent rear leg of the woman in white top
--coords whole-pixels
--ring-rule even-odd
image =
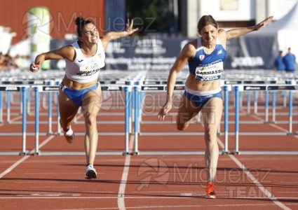
[[[59,113],[60,113],[60,125],[62,130],[67,132],[70,125],[74,122],[76,113],[79,110],[79,106],[67,97],[67,95],[59,89]]]

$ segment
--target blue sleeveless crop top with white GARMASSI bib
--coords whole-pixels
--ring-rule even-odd
[[[197,41],[196,55],[189,60],[189,73],[196,75],[196,79],[201,81],[219,80],[222,78],[222,71],[224,71],[226,50],[217,39],[215,50],[211,54],[207,54],[203,50],[201,37],[198,37]]]

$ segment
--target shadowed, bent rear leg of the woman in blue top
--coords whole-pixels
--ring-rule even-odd
[[[191,120],[196,117],[200,110],[182,94],[176,121],[177,130],[186,130]]]

